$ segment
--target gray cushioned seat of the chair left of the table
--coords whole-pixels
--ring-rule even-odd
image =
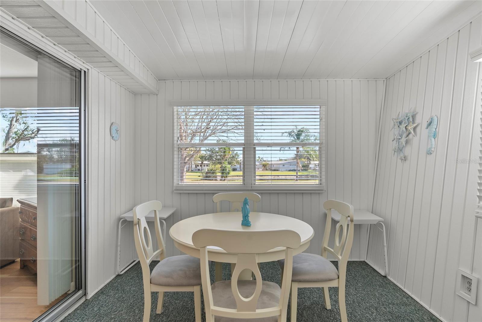
[[[164,258],[152,270],[151,284],[162,286],[201,285],[199,258],[189,255]]]

